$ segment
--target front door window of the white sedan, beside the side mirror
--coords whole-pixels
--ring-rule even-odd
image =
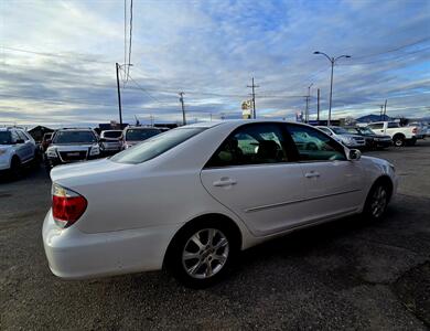
[[[343,147],[316,129],[287,125],[301,161],[346,160]]]

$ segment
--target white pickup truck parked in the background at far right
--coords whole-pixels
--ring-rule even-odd
[[[417,127],[400,127],[397,121],[376,121],[368,126],[376,134],[384,134],[391,137],[395,146],[400,147],[405,145],[415,145],[417,142],[418,128]]]

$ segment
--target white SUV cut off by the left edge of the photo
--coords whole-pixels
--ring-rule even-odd
[[[23,164],[35,161],[37,149],[34,139],[20,128],[0,128],[0,171],[19,173]]]

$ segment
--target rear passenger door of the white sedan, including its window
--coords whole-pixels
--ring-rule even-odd
[[[236,213],[256,236],[302,222],[301,164],[290,162],[280,124],[247,124],[222,143],[201,172],[207,192]]]

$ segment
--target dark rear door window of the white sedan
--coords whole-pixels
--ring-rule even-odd
[[[275,124],[246,125],[236,129],[206,167],[229,167],[287,162],[281,129]]]

